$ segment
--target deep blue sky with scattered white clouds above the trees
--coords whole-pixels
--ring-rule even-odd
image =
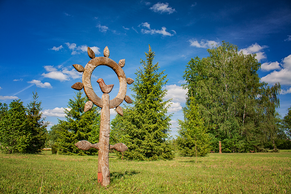
[[[0,1],[0,102],[32,100],[37,91],[50,126],[64,119],[63,108],[75,95],[71,86],[81,81],[73,64],[85,66],[91,47],[103,56],[108,46],[112,60],[126,59],[126,77],[136,78],[140,58],[150,44],[154,62],[165,70],[172,135],[183,119],[186,91],[181,88],[185,65],[191,58],[208,56],[211,44],[225,40],[244,53],[257,53],[261,81],[280,81],[279,113],[285,116],[291,99],[291,2],[289,1]],[[115,84],[108,67],[95,69],[96,81]],[[94,85],[95,84],[95,85]],[[132,94],[128,86],[127,95]],[[114,118],[112,111],[112,118]]]

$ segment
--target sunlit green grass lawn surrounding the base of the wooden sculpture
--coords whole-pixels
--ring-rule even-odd
[[[110,155],[111,183],[97,183],[98,156],[0,153],[0,193],[291,193],[291,152],[209,154],[170,161]]]

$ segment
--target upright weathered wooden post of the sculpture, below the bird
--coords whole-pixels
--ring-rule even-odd
[[[102,95],[103,108],[101,109],[99,151],[98,151],[98,183],[107,186],[110,183],[109,174],[109,136],[110,136],[110,111],[109,95]],[[100,174],[101,173],[101,174]],[[101,179],[100,179],[101,177]]]

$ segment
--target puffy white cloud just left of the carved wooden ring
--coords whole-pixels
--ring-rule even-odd
[[[71,68],[71,70],[68,70],[68,68],[63,67],[63,66],[58,66],[58,69],[55,68],[54,66],[44,66],[46,71],[49,73],[43,73],[41,74],[45,78],[51,78],[55,79],[58,81],[68,81],[70,78],[76,79],[76,78],[81,78],[82,73],[76,71],[74,68]]]

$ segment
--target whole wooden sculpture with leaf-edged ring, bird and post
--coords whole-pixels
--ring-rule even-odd
[[[90,148],[98,149],[98,183],[103,186],[107,186],[110,183],[110,173],[109,173],[109,149],[115,149],[119,152],[124,152],[128,148],[123,143],[116,143],[115,145],[109,144],[110,136],[110,108],[116,108],[116,112],[123,116],[122,107],[119,106],[123,100],[127,103],[132,103],[129,96],[126,96],[127,84],[132,84],[133,79],[126,78],[122,67],[125,65],[125,59],[121,59],[117,64],[115,61],[109,58],[109,49],[106,46],[103,53],[104,57],[95,57],[94,51],[88,47],[88,56],[91,60],[86,64],[85,68],[81,65],[74,64],[73,67],[78,72],[83,72],[82,83],[75,83],[72,88],[75,90],[84,89],[86,96],[90,101],[86,102],[84,107],[84,112],[89,111],[93,104],[101,108],[101,121],[100,121],[100,134],[99,142],[91,144],[86,140],[79,141],[75,145],[81,150],[88,150]],[[98,79],[97,82],[103,92],[101,98],[99,98],[93,90],[91,85],[91,75],[93,70],[99,66],[105,65],[113,69],[119,79],[119,91],[115,98],[109,100],[109,94],[113,88],[113,84],[106,85],[103,79]]]

